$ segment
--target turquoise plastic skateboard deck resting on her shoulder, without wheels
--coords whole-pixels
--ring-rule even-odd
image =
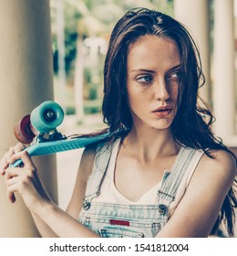
[[[92,137],[82,137],[82,138],[74,138],[74,139],[63,139],[58,141],[51,141],[51,142],[42,142],[32,144],[26,147],[26,151],[30,156],[36,155],[49,155],[49,154],[56,154],[58,152],[73,150],[77,148],[82,148],[87,146],[88,144],[94,144],[103,139],[108,138],[111,136],[111,133],[104,133],[98,136]],[[12,167],[16,167],[22,163],[22,160],[16,160]]]

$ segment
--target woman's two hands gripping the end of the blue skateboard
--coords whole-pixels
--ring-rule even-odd
[[[36,213],[41,203],[50,201],[44,187],[37,175],[36,166],[26,151],[23,144],[11,147],[1,160],[1,173],[5,175],[7,196],[11,202],[15,202],[15,192],[24,199],[26,207],[32,213]],[[19,167],[11,167],[16,160],[21,159],[23,164]]]

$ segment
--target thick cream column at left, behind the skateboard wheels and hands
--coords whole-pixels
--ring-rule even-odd
[[[49,1],[0,0],[0,157],[16,143],[14,125],[42,101],[53,100]],[[57,199],[55,157],[35,161],[51,196]],[[38,236],[20,197],[11,204],[0,176],[0,237]],[[14,245],[13,245],[14,246]]]

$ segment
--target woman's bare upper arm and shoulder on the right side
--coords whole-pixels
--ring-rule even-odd
[[[236,175],[232,155],[219,151],[214,156],[203,155],[184,197],[158,238],[209,236]]]

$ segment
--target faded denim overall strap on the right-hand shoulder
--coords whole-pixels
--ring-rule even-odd
[[[185,175],[196,154],[201,157],[200,152],[196,149],[183,146],[180,148],[180,152],[175,159],[169,176],[162,182],[158,191],[160,205],[170,206],[171,201],[176,196],[182,177]]]

